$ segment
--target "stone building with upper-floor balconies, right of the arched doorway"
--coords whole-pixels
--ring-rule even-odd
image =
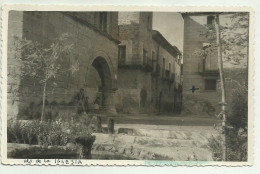
[[[119,12],[119,113],[173,112],[181,107],[181,53],[152,30],[152,21],[152,12]]]

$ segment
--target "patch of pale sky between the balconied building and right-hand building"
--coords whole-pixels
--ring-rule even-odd
[[[183,50],[184,21],[180,13],[154,12],[153,29],[158,30],[179,50]]]

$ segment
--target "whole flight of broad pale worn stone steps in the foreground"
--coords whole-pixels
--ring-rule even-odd
[[[95,133],[97,151],[121,153],[134,159],[212,160],[208,139],[213,131],[118,128],[116,134]]]

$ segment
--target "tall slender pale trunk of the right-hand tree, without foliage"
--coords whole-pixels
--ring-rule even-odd
[[[226,147],[226,92],[225,92],[225,81],[224,81],[224,72],[223,72],[223,60],[222,60],[222,48],[220,40],[220,27],[219,27],[219,13],[216,13],[215,16],[215,28],[217,36],[217,47],[218,47],[218,69],[220,77],[220,86],[221,86],[221,114],[222,114],[222,129],[224,135],[224,141],[222,146],[222,158],[223,161],[227,160],[227,147]]]

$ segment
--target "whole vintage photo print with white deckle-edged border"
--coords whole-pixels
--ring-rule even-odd
[[[253,164],[252,8],[2,10],[3,164]]]

